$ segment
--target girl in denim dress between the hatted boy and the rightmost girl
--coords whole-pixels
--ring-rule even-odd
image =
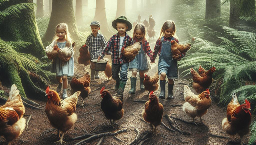
[[[131,76],[131,90],[129,91],[130,94],[134,94],[136,91],[136,81],[137,81],[137,72],[139,72],[139,79],[140,79],[140,90],[145,90],[143,85],[144,80],[144,72],[148,72],[151,68],[150,64],[147,60],[146,54],[149,58],[152,58],[152,50],[150,49],[149,43],[146,40],[146,28],[144,24],[136,24],[134,31],[133,31],[133,41],[139,42],[141,41],[141,47],[139,54],[135,57],[133,61],[129,64],[129,71],[132,71]]]

